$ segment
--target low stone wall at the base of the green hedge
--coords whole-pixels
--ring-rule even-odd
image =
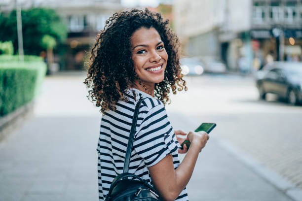
[[[19,126],[34,111],[35,101],[32,100],[14,111],[0,117],[0,142]]]

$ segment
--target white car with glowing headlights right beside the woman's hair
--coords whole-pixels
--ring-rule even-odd
[[[184,75],[201,75],[204,71],[203,63],[196,58],[182,58],[180,63]]]

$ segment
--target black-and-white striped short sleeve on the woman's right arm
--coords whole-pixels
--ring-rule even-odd
[[[133,148],[146,166],[151,167],[168,154],[177,153],[180,147],[164,106],[154,106],[139,127]]]

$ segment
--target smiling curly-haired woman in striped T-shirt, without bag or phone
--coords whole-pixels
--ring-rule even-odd
[[[198,153],[209,136],[189,132],[191,145],[180,149],[187,135],[173,130],[164,104],[172,90],[187,90],[182,79],[178,38],[158,13],[132,9],[117,12],[92,48],[85,84],[101,106],[98,142],[99,200],[113,178],[122,173],[134,108],[139,99],[137,128],[129,172],[153,185],[162,200],[188,201],[186,185]],[[179,143],[180,142],[180,143]],[[187,152],[188,151],[188,152]],[[187,153],[180,164],[178,153]]]

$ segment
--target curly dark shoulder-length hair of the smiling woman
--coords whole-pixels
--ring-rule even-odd
[[[165,77],[162,82],[155,83],[154,96],[165,104],[168,101],[170,103],[170,88],[173,94],[176,94],[176,90],[187,91],[179,63],[179,40],[169,28],[169,20],[164,20],[159,13],[147,8],[116,12],[98,34],[84,81],[87,88],[91,88],[87,98],[102,107],[100,111],[103,115],[107,110],[115,110],[118,100],[127,100],[124,96],[126,90],[137,79],[131,57],[130,37],[142,27],[152,27],[159,33],[168,54]]]

